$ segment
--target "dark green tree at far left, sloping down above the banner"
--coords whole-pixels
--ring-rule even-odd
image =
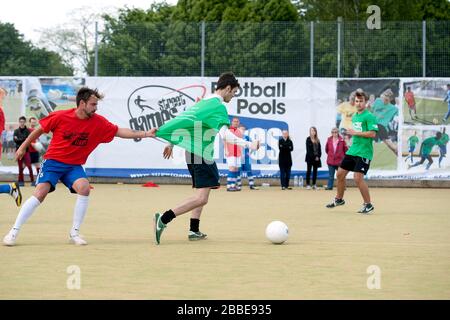
[[[61,57],[34,47],[10,23],[0,23],[0,75],[70,76],[72,68]]]

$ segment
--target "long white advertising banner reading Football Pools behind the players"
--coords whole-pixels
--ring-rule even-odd
[[[319,178],[326,178],[327,138],[335,126],[345,135],[348,119],[354,112],[349,101],[351,92],[362,88],[371,96],[373,111],[385,128],[385,135],[374,143],[374,159],[368,178],[450,178],[450,162],[445,157],[446,148],[442,144],[433,146],[430,165],[428,159],[419,163],[422,142],[436,136],[437,132],[442,136],[450,131],[444,121],[450,108],[444,101],[448,91],[446,85],[450,83],[448,78],[238,79],[241,89],[227,109],[230,119],[238,117],[248,129],[249,136],[262,143],[260,150],[251,154],[256,176],[278,175],[281,130],[289,130],[294,143],[292,175],[305,171],[306,138],[310,127],[314,126],[322,146]],[[76,91],[84,85],[104,93],[105,98],[99,103],[99,114],[120,127],[148,130],[161,126],[210,94],[215,81],[216,78],[200,77],[0,78],[0,84],[8,86],[9,92],[3,103],[7,122],[5,131],[15,129],[15,119],[20,115],[39,119],[53,110],[75,107]],[[385,92],[390,92],[389,101],[383,104],[382,94]],[[383,110],[386,110],[385,114]],[[386,117],[389,117],[387,121]],[[10,135],[6,134],[8,132],[2,136],[4,142]],[[414,135],[418,142],[412,150],[409,141]],[[49,137],[42,139],[44,146],[48,140]],[[8,148],[2,150],[0,171],[15,172],[17,170],[11,169],[16,166],[11,156],[13,151],[8,142],[6,145]],[[89,157],[85,168],[91,176],[188,175],[184,151],[176,147],[174,159],[164,160],[163,148],[164,143],[154,139],[133,141],[116,138],[109,144],[100,145]],[[221,173],[226,172],[220,139],[216,139],[215,158]]]

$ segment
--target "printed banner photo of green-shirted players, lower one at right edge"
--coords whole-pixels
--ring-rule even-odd
[[[408,174],[447,174],[450,126],[405,126],[402,131],[402,167]]]

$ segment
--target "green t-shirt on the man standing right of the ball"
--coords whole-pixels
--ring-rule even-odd
[[[352,117],[352,126],[353,130],[358,132],[378,131],[377,119],[369,110],[355,113]],[[372,160],[373,138],[353,136],[352,139],[352,145],[348,149],[347,154]]]

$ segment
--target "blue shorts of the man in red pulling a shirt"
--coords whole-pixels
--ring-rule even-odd
[[[72,185],[80,178],[87,179],[86,172],[84,172],[81,165],[65,164],[56,160],[47,159],[42,161],[41,171],[36,179],[36,185],[47,182],[50,184],[50,192],[53,192],[58,181],[61,181],[70,192],[76,193]]]

